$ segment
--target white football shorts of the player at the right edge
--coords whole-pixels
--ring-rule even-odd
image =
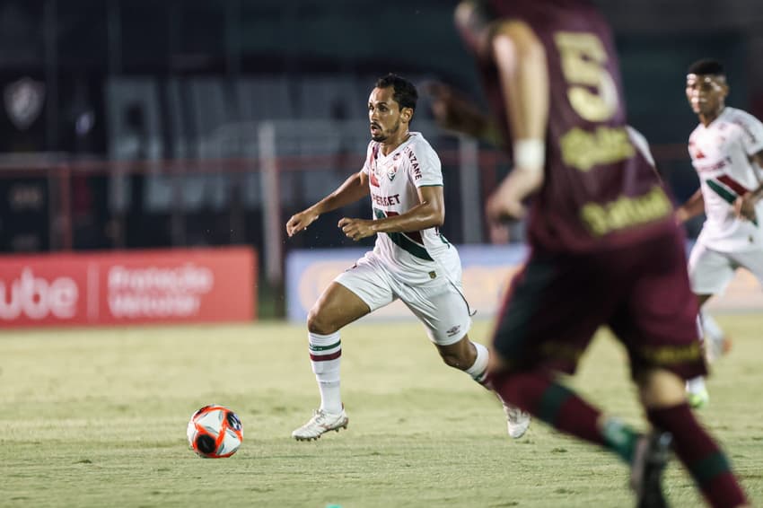
[[[718,252],[696,243],[688,257],[688,278],[695,294],[723,294],[737,268],[750,270],[763,286],[763,250]]]

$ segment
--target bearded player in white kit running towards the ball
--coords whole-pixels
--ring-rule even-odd
[[[338,227],[354,241],[377,235],[374,249],[339,275],[308,315],[320,408],[292,433],[299,441],[346,428],[339,329],[397,299],[421,320],[445,363],[479,383],[485,380],[487,348],[467,335],[471,317],[461,291],[459,254],[438,231],[445,217],[440,159],[424,136],[408,130],[417,97],[416,87],[397,75],[379,79],[368,99],[372,141],[363,169],[286,223],[293,236],[321,214],[370,195],[374,218],[345,217]],[[520,437],[530,416],[505,405],[504,410],[509,434]]]

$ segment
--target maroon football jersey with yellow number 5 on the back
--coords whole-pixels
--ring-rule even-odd
[[[527,22],[546,49],[550,111],[543,187],[528,236],[546,250],[628,245],[675,228],[672,204],[626,127],[607,22],[585,0],[492,0],[492,15]],[[480,61],[487,99],[510,139],[495,63]]]

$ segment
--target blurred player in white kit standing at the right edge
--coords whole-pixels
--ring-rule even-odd
[[[723,65],[699,60],[688,69],[686,94],[699,125],[688,138],[688,153],[700,188],[679,207],[687,221],[703,211],[706,221],[688,260],[692,291],[700,308],[724,293],[737,268],[743,267],[763,285],[763,124],[741,109],[725,105],[729,93]],[[701,325],[711,358],[728,347],[724,332],[704,311]],[[693,407],[709,400],[702,378],[687,382]]]

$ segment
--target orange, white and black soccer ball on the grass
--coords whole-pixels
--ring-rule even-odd
[[[186,434],[191,450],[206,459],[230,457],[244,439],[241,419],[227,407],[215,404],[191,416]]]

